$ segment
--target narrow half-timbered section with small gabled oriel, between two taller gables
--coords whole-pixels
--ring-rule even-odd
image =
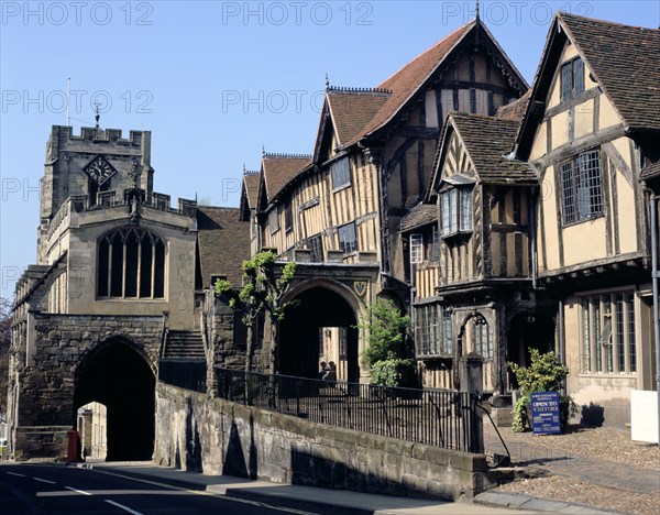
[[[427,386],[458,386],[457,361],[474,352],[484,360],[484,391],[504,393],[512,387],[507,359],[527,364],[529,347],[553,347],[551,316],[534,292],[538,177],[507,155],[527,100],[497,117],[451,112],[427,199],[403,224]]]

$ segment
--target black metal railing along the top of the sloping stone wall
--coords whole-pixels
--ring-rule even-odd
[[[483,452],[475,394],[328,382],[216,369],[218,396],[310,421]]]

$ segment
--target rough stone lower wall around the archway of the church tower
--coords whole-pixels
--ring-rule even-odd
[[[16,370],[11,371],[9,401],[18,415],[10,427],[12,451],[16,460],[62,458],[66,456],[66,431],[76,424],[74,394],[80,364],[106,342],[120,339],[141,354],[155,374],[163,317],[42,313],[28,317],[26,347],[14,350]]]

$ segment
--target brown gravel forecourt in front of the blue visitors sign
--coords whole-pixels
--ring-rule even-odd
[[[603,427],[573,426],[557,436],[535,437],[531,432],[513,432],[510,428],[499,428],[499,432],[509,448],[514,467],[524,469],[518,474],[520,479],[496,491],[619,512],[660,514],[660,447],[632,441],[629,431]],[[486,453],[504,453],[492,426],[484,426],[484,437]],[[566,459],[575,465],[569,465]],[[604,478],[604,471],[608,478]],[[619,475],[620,483],[613,486],[613,476],[616,480]],[[658,486],[640,489],[636,475],[650,479],[651,484],[657,478]],[[609,484],[603,484],[607,482]]]

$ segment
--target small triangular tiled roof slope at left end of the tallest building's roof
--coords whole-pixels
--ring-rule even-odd
[[[353,141],[388,98],[389,94],[378,90],[330,89],[328,103],[340,144]]]

